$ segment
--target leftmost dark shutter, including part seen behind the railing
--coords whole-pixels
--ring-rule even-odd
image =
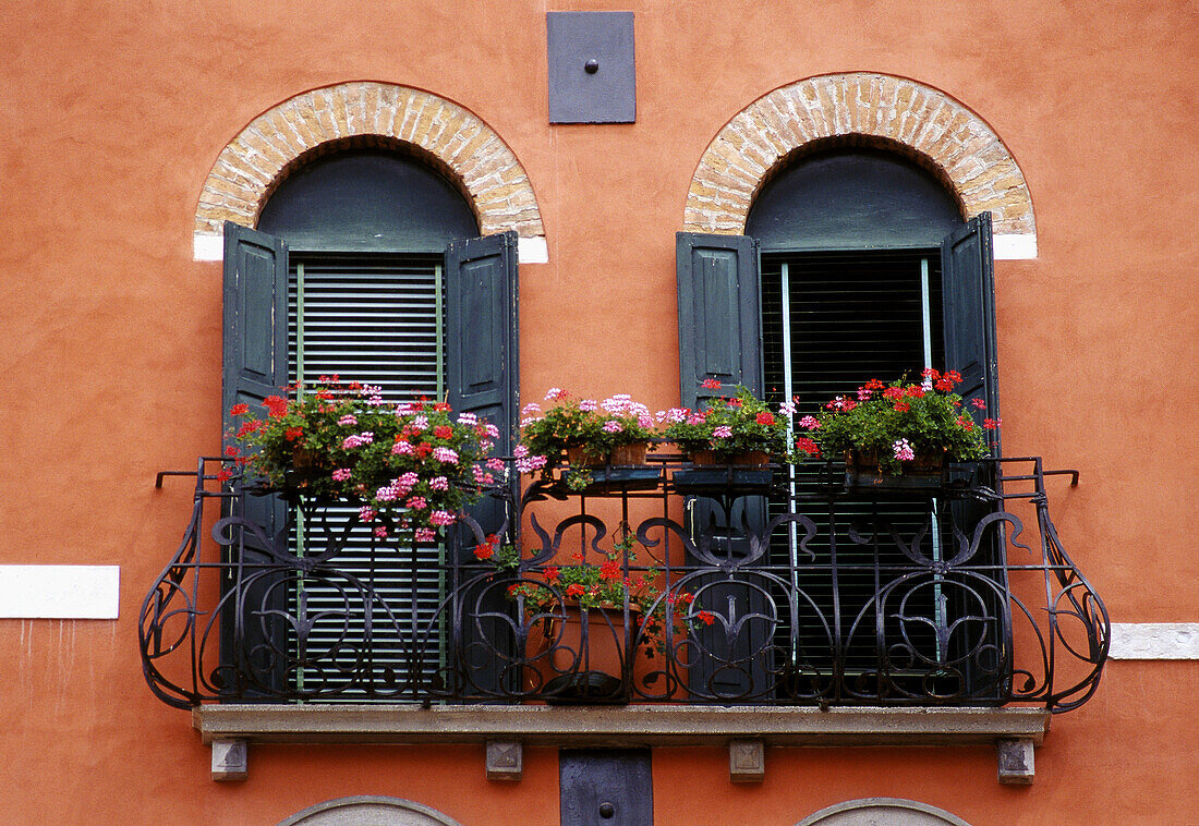
[[[282,393],[287,384],[287,301],[288,251],[283,241],[225,222],[222,421],[227,432],[235,427],[229,415],[233,405],[243,402],[261,415],[263,399]],[[283,541],[288,511],[278,496],[241,496],[234,508],[236,516],[261,525],[266,536]],[[257,577],[248,567],[271,560],[269,549],[251,531],[242,531],[240,545],[230,550],[240,554],[230,561],[247,567],[236,577],[239,592],[225,603],[229,613],[221,623],[222,662],[249,675],[245,695],[253,698],[261,689],[283,688],[287,639],[278,619],[287,608],[288,589],[282,574]],[[247,578],[249,584],[242,589]]]

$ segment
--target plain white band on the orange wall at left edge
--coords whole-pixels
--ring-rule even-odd
[[[0,565],[0,619],[115,620],[116,565]]]

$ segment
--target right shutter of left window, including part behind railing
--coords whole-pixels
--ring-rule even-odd
[[[518,396],[519,358],[517,350],[517,234],[508,231],[480,239],[454,241],[446,251],[446,388],[456,412],[472,412],[499,428],[495,454],[510,456],[513,447]],[[516,480],[512,480],[513,489]],[[484,498],[470,508],[470,516],[484,533],[502,530],[507,514],[504,504]],[[448,551],[460,565],[476,562],[476,538],[465,526],[450,537]],[[454,568],[457,574],[462,572]],[[457,586],[458,583],[452,583]],[[462,592],[456,616],[457,655],[464,689],[502,688],[499,657],[488,655],[504,645],[511,626],[499,615],[512,607],[502,589]],[[494,613],[475,619],[468,615]],[[480,637],[487,640],[472,645]]]

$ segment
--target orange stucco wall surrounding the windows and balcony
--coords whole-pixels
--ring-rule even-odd
[[[121,619],[0,620],[0,820],[275,824],[384,794],[464,824],[556,822],[556,760],[476,747],[255,747],[209,779],[141,682],[137,613],[219,436],[221,265],[192,259],[217,153],[288,97],[372,79],[475,113],[529,174],[520,382],[677,400],[674,233],[721,127],[770,90],[875,71],[978,113],[1019,162],[1040,257],[996,264],[1005,448],[1077,468],[1055,521],[1120,622],[1194,622],[1199,11],[1192,2],[574,2],[635,12],[634,125],[547,122],[546,2],[8,2],[0,53],[0,563],[121,566]],[[1055,721],[1031,789],[989,749],[658,749],[659,824],[790,824],[875,795],[971,824],[1197,822],[1199,663],[1120,662]],[[1047,814],[1055,812],[1056,814]]]

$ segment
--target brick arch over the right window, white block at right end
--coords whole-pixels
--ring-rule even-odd
[[[707,145],[683,229],[735,235],[761,187],[799,153],[830,144],[898,150],[932,170],[969,218],[990,210],[996,258],[1035,258],[1024,173],[974,111],[930,86],[873,72],[825,74],[758,98]]]

